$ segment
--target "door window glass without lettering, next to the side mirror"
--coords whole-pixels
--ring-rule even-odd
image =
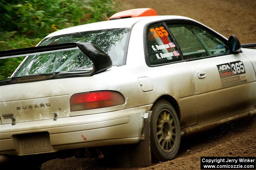
[[[229,48],[214,34],[194,25],[168,25],[184,59],[214,57],[229,53]]]

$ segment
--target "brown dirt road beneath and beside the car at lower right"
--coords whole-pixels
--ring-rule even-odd
[[[225,128],[228,129],[225,130]],[[256,119],[246,126],[234,123],[217,129],[217,131],[216,129],[211,131],[214,133],[204,133],[208,136],[208,140],[204,138],[205,141],[192,145],[191,149],[177,156],[176,159],[143,169],[200,169],[201,156],[256,156]],[[198,138],[201,137],[198,136]],[[183,142],[190,140],[189,138],[188,141]]]

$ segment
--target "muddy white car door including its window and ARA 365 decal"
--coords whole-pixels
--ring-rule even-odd
[[[196,23],[167,23],[195,82],[198,124],[253,110],[255,75],[242,54],[231,54],[226,39]]]

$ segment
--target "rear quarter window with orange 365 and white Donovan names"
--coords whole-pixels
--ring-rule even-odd
[[[162,23],[147,27],[147,50],[151,65],[182,60],[173,39]]]

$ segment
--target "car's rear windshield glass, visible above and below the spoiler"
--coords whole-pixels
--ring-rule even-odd
[[[129,28],[77,32],[49,37],[39,46],[67,42],[92,43],[107,53],[115,66],[125,63],[129,32]],[[28,56],[14,77],[92,68],[93,63],[85,54],[80,50],[73,50]]]

